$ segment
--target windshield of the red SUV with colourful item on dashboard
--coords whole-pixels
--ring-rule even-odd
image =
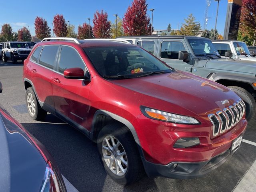
[[[160,60],[135,46],[92,47],[84,51],[104,78],[137,78],[172,72]]]

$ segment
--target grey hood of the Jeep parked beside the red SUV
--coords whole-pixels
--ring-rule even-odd
[[[206,68],[212,68],[217,70],[226,70],[227,72],[242,72],[245,74],[256,74],[256,63],[253,61],[238,60],[238,59],[216,59],[208,60]]]

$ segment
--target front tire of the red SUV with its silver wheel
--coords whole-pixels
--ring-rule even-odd
[[[113,148],[112,141],[116,145],[120,142],[116,149]],[[132,133],[123,124],[114,122],[104,126],[98,134],[97,147],[106,172],[115,182],[128,185],[144,176],[144,167]],[[123,155],[118,156],[118,154]],[[110,169],[111,162],[112,168]]]

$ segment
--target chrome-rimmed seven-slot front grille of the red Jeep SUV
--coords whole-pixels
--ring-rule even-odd
[[[216,112],[216,114],[209,114],[208,118],[213,125],[213,136],[224,133],[226,130],[233,128],[242,119],[245,112],[245,104],[239,99],[228,108],[224,108]]]

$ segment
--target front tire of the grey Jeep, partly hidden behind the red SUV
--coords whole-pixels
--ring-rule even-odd
[[[229,86],[245,103],[245,115],[246,119],[250,121],[255,118],[256,114],[256,102],[252,94],[241,87]]]

